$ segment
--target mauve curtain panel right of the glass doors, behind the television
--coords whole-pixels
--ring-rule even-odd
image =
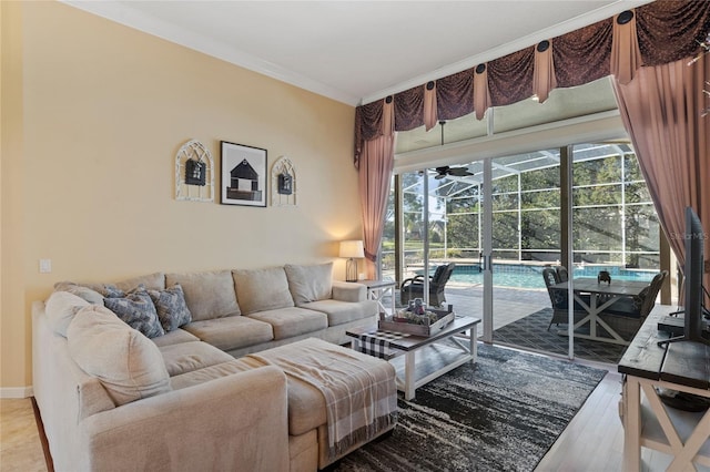
[[[661,227],[682,267],[684,208],[692,206],[710,232],[710,116],[703,84],[710,58],[640,68],[629,83],[615,78],[613,90],[631,136]],[[710,244],[706,239],[706,258]],[[706,287],[710,275],[706,274]]]

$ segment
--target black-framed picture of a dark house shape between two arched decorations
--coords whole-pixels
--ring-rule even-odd
[[[266,206],[266,150],[221,142],[220,203]]]

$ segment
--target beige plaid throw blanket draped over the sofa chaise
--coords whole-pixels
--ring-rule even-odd
[[[275,365],[323,393],[332,459],[396,423],[397,391],[389,362],[320,339],[248,357]]]

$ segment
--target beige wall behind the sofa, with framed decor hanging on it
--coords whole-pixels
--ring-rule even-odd
[[[335,242],[362,232],[353,107],[65,4],[0,10],[4,392],[32,382],[30,304],[58,280],[323,260],[343,277]],[[287,155],[298,206],[175,201],[190,138],[217,171],[221,140]]]

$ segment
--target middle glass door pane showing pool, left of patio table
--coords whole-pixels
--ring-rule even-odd
[[[566,356],[542,269],[560,266],[560,151],[491,161],[493,340]]]

